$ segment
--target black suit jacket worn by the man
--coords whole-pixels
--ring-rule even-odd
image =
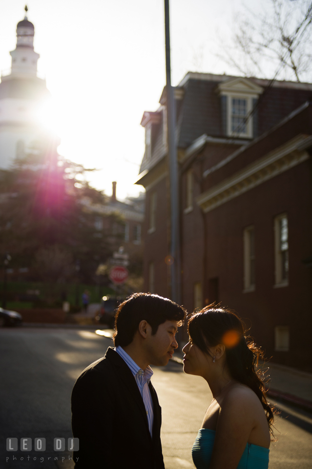
[[[134,376],[111,347],[79,376],[72,392],[75,469],[165,469],[160,441],[161,407],[152,384],[153,438]]]

